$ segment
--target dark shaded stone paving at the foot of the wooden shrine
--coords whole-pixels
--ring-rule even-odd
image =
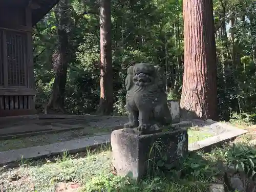
[[[43,133],[56,133],[60,131],[78,130],[86,127],[122,126],[127,117],[94,116],[94,115],[41,115],[39,119],[22,119],[0,123],[0,139],[17,136],[32,136]]]

